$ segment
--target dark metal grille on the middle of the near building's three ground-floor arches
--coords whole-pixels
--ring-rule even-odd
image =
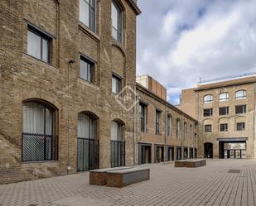
[[[77,170],[94,170],[99,168],[99,141],[77,138]]]

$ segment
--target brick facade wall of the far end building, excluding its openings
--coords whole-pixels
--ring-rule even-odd
[[[245,89],[247,91],[247,98],[237,100],[235,99],[235,92]],[[223,92],[229,93],[229,101],[220,102],[219,94]],[[254,84],[241,84],[229,87],[221,87],[216,89],[200,90],[196,105],[198,105],[198,120],[200,122],[200,156],[204,155],[204,143],[213,143],[214,158],[219,158],[219,141],[218,138],[235,138],[247,137],[248,141],[246,153],[247,158],[255,158],[254,156]],[[213,103],[203,103],[203,98],[206,94],[213,95]],[[247,105],[247,113],[235,114],[236,105]],[[219,108],[229,107],[229,115],[220,116]],[[204,108],[213,108],[212,117],[203,117]],[[236,131],[236,122],[245,122],[245,131]],[[220,123],[228,123],[229,131],[220,132]],[[212,124],[212,132],[205,133],[204,125]]]

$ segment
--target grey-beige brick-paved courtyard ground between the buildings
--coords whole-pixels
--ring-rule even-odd
[[[0,205],[256,205],[255,160],[207,160],[196,169],[147,166],[150,180],[123,189],[89,185],[88,172],[0,185]]]

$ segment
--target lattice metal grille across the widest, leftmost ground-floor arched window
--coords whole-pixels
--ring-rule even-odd
[[[53,136],[22,133],[22,161],[53,160]]]

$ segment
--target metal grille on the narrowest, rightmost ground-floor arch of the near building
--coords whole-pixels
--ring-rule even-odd
[[[111,141],[111,167],[125,165],[125,141]]]

